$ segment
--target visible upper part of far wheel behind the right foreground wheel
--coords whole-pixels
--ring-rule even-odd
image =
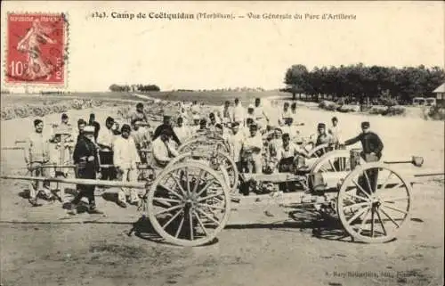
[[[351,171],[351,155],[347,150],[330,151],[312,165],[311,175],[325,172]]]

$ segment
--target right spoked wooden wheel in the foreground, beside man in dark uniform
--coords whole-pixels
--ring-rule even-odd
[[[409,217],[411,184],[382,163],[367,163],[345,177],[337,197],[337,213],[357,241],[395,238]]]

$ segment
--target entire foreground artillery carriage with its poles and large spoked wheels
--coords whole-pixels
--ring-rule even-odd
[[[391,241],[407,225],[412,208],[412,185],[422,176],[443,176],[442,172],[402,174],[395,163],[411,163],[420,168],[423,159],[365,163],[360,150],[327,151],[320,158],[308,158],[303,167],[275,174],[239,174],[227,150],[218,150],[222,138],[205,137],[181,154],[166,168],[153,172],[146,182],[116,182],[74,178],[2,176],[4,179],[41,180],[65,184],[132,187],[144,190],[145,209],[156,232],[166,241],[182,246],[206,244],[228,223],[232,204],[251,204],[286,198],[295,204],[309,203],[330,208],[346,233],[364,242]],[[200,138],[197,138],[200,139]],[[191,139],[190,142],[196,139]],[[203,145],[202,143],[212,143]],[[213,147],[211,151],[200,148]],[[204,147],[203,147],[204,146]],[[220,145],[220,146],[223,146]],[[230,148],[229,148],[230,152]],[[60,166],[67,168],[67,166]],[[153,169],[141,165],[140,169]],[[267,192],[244,196],[241,184],[272,187]],[[293,188],[287,188],[293,184]],[[285,185],[285,192],[279,188]],[[287,192],[289,190],[290,192]],[[254,200],[247,200],[254,198]],[[277,200],[279,202],[279,200]]]

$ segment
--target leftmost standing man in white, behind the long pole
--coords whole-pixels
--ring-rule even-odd
[[[43,134],[44,122],[40,119],[34,120],[35,131],[32,132],[26,141],[25,162],[31,176],[47,176],[46,168],[41,168],[49,162],[49,138]],[[39,207],[37,204],[37,194],[43,193],[44,199],[53,200],[54,196],[48,188],[40,181],[31,184],[29,188],[29,203],[33,207]]]

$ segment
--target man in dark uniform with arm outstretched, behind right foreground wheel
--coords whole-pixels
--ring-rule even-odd
[[[361,151],[360,156],[366,162],[376,162],[382,158],[382,151],[384,149],[384,143],[380,140],[380,137],[374,132],[369,131],[369,122],[361,122],[361,133],[352,139],[346,140],[344,145],[352,145],[360,141],[363,151]],[[370,168],[366,172],[368,175],[369,184],[371,188],[376,191],[376,184],[378,179],[378,168]],[[365,178],[366,179],[366,178]],[[363,189],[368,190],[368,184],[365,183],[363,177],[360,178],[360,185]],[[374,192],[373,190],[368,190],[369,193]]]

